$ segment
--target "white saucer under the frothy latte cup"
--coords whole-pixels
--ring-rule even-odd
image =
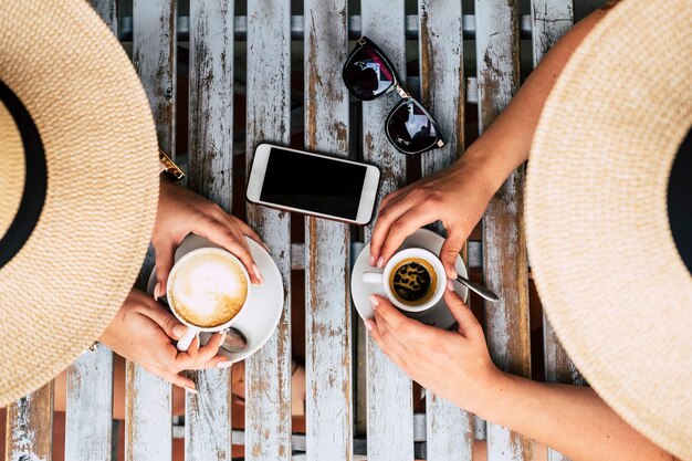
[[[248,349],[242,353],[230,353],[223,348],[219,349],[219,354],[227,356],[233,363],[251,356],[269,340],[274,329],[276,329],[276,325],[279,325],[284,304],[283,281],[276,263],[262,245],[248,237],[245,237],[245,240],[250,247],[252,258],[254,258],[254,262],[264,277],[264,285],[252,285],[248,305],[238,314],[238,321],[233,324],[233,327],[240,329],[248,338]],[[175,259],[178,261],[191,250],[203,247],[216,245],[202,237],[190,234],[178,247]],[[147,285],[149,294],[154,293],[154,286],[156,286],[156,268],[154,268],[149,276]],[[207,344],[210,337],[211,334],[201,333],[200,343],[202,345]]]

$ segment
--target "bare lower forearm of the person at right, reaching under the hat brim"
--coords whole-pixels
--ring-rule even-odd
[[[476,412],[575,461],[673,458],[640,436],[588,387],[501,374]]]

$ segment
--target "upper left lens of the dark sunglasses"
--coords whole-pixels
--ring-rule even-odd
[[[394,72],[369,46],[356,51],[344,67],[344,82],[361,99],[373,99],[391,87]]]

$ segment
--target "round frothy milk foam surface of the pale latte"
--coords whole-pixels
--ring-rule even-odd
[[[210,328],[233,318],[248,297],[240,264],[216,252],[191,254],[174,271],[169,304],[188,323]]]

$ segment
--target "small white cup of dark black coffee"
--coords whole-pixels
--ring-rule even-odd
[[[408,248],[389,259],[382,272],[365,272],[363,283],[379,284],[387,298],[408,312],[423,312],[444,295],[447,275],[438,256],[422,248]]]

